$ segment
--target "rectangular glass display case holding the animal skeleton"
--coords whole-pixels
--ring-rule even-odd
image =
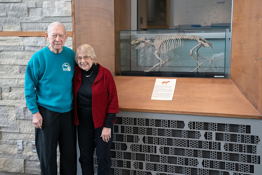
[[[229,29],[120,31],[120,75],[230,77]]]

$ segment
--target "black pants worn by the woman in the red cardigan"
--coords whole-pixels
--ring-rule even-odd
[[[79,125],[77,126],[78,145],[80,150],[79,162],[83,175],[94,174],[94,150],[98,161],[98,175],[109,175],[111,173],[111,144],[113,140],[113,128],[111,128],[111,139],[108,143],[102,140],[103,127],[94,127],[92,111],[85,110],[77,113]]]

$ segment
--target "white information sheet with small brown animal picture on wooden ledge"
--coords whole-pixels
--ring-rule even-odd
[[[177,79],[156,79],[151,100],[172,100]]]

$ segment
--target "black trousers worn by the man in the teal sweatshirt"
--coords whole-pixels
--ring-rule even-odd
[[[73,110],[65,113],[38,106],[42,129],[35,128],[35,146],[42,175],[57,175],[57,143],[60,150],[60,174],[76,174],[76,126]]]

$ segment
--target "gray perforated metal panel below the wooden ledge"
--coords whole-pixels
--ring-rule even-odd
[[[121,111],[112,174],[259,175],[261,128],[255,119]]]

